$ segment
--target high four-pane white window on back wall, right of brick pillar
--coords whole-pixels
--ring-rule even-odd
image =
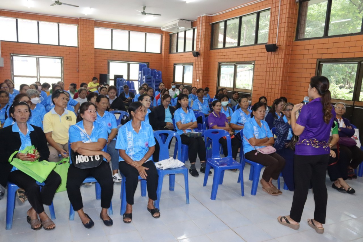
[[[94,28],[94,48],[161,54],[162,34]]]

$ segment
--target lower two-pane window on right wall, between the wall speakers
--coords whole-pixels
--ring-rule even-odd
[[[219,63],[218,89],[252,93],[254,62]]]

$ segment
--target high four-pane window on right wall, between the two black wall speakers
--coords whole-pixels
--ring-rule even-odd
[[[211,49],[267,43],[270,9],[216,22],[212,25]]]

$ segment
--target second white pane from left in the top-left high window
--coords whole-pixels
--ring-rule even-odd
[[[20,42],[38,43],[38,22],[18,19],[18,36]]]

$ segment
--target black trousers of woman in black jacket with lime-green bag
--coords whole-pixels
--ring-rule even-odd
[[[26,175],[24,172],[16,170],[10,172],[9,181],[25,190],[30,205],[37,214],[40,214],[44,212],[43,204],[48,206],[52,204],[54,194],[61,184],[62,179],[57,172],[51,171],[44,181],[45,186],[40,190],[36,180]]]

